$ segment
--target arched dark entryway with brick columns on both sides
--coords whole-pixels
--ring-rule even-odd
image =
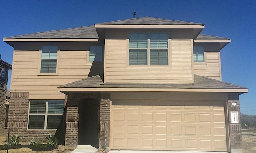
[[[68,92],[65,145],[109,144],[110,93]]]

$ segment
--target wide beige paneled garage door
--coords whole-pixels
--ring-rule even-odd
[[[110,149],[227,151],[224,103],[112,101]]]

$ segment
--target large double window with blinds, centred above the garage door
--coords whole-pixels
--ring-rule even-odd
[[[168,65],[168,33],[130,33],[129,65]]]

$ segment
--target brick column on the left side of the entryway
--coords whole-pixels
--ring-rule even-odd
[[[78,140],[78,103],[73,99],[66,104],[65,146],[77,147]]]

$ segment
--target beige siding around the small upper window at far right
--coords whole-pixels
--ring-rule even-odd
[[[198,45],[198,43],[195,43]],[[219,44],[205,43],[199,44],[204,46],[204,64],[194,63],[194,74],[210,77],[212,79],[221,80],[221,65],[220,65],[220,49]]]

